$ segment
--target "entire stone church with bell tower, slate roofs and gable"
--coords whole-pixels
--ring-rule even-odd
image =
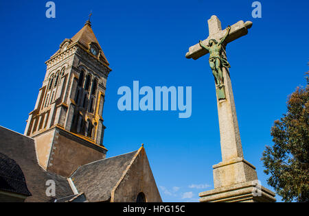
[[[0,126],[0,202],[161,202],[144,146],[106,158],[111,68],[91,22],[45,64],[25,133]]]

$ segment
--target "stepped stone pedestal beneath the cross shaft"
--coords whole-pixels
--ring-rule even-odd
[[[243,158],[214,165],[214,190],[199,194],[200,202],[275,202],[275,193],[262,187],[255,167]]]

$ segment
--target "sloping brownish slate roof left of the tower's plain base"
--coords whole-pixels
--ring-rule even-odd
[[[45,194],[47,180],[54,180],[56,183],[54,198],[73,195],[67,178],[49,173],[38,165],[34,139],[0,126],[0,152],[12,158],[21,167],[27,188],[32,193],[32,196],[27,197],[26,202],[52,200],[52,197],[47,197]]]

